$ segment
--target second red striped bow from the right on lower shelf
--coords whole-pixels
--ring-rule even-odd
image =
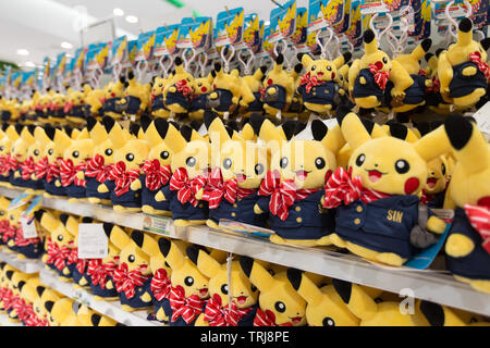
[[[223,307],[221,297],[215,294],[206,303],[204,319],[209,326],[238,326],[240,320],[252,310],[252,308],[240,309],[235,301],[232,301],[231,308]]]

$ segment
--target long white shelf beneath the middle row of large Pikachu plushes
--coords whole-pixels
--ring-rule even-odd
[[[0,188],[0,195],[16,197],[21,190]],[[326,249],[280,246],[245,235],[226,234],[206,226],[175,228],[166,217],[117,213],[110,207],[66,202],[66,199],[44,199],[42,206],[68,213],[91,216],[136,229],[168,235],[193,244],[259,260],[322,274],[387,291],[400,294],[409,289],[415,298],[433,301],[490,316],[490,295],[455,281],[443,271],[380,266],[350,253]],[[151,226],[151,228],[148,228]],[[163,227],[160,227],[163,226]],[[163,228],[163,229],[161,229]],[[95,309],[95,308],[94,308]]]

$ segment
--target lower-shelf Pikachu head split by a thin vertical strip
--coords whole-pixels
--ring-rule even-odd
[[[238,308],[249,308],[257,303],[258,290],[243,273],[238,261],[232,262],[230,288],[225,263],[220,264],[206,251],[196,247],[187,248],[187,257],[209,277],[209,294],[211,297],[219,296],[221,306],[228,306],[230,295]]]

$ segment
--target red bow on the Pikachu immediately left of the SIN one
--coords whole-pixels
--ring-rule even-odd
[[[270,196],[269,209],[272,215],[285,221],[290,215],[290,207],[295,200],[302,200],[319,189],[296,189],[294,181],[281,182],[281,174],[278,170],[267,172],[260,184],[258,194]]]

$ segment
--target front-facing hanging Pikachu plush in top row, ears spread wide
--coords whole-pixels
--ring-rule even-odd
[[[306,109],[320,115],[326,115],[341,101],[341,95],[346,91],[336,83],[340,77],[338,70],[351,60],[352,53],[346,52],[330,62],[326,59],[314,60],[308,54],[298,54],[306,67],[302,76],[298,91]]]

